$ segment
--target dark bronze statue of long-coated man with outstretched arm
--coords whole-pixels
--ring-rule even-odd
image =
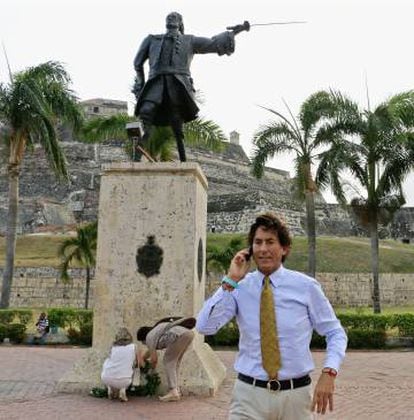
[[[153,126],[171,126],[181,162],[186,161],[183,123],[197,118],[190,64],[194,54],[234,52],[234,36],[249,30],[248,22],[229,27],[212,38],[184,34],[182,16],[172,12],[166,19],[167,32],[148,35],[134,60],[136,71],[133,93],[137,99],[135,115],[144,127],[142,145],[148,140]],[[149,75],[145,81],[144,63],[149,60]],[[140,160],[137,156],[137,160]]]

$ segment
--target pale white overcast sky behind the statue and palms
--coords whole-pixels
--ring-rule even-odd
[[[261,106],[297,115],[320,89],[338,89],[367,107],[414,87],[414,3],[410,0],[1,0],[0,40],[13,72],[48,60],[65,64],[80,99],[126,100],[133,59],[146,35],[165,32],[165,16],[183,15],[185,32],[210,37],[227,26],[256,26],[236,37],[231,56],[196,55],[191,72],[202,93],[200,116],[226,134],[236,130],[245,152],[272,117]],[[0,51],[0,81],[8,70]],[[268,165],[293,175],[292,156]],[[414,206],[414,175],[404,184]],[[333,197],[325,194],[329,202]]]

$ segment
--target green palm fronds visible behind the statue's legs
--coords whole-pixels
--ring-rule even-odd
[[[81,137],[86,142],[99,142],[115,138],[124,140],[127,153],[132,157],[133,148],[128,142],[125,126],[134,120],[134,117],[127,114],[93,118],[83,126]],[[213,121],[197,118],[184,124],[184,140],[190,146],[219,151],[222,150],[226,137]],[[173,158],[175,144],[175,137],[170,127],[154,127],[145,148],[149,155],[156,160],[168,161]]]

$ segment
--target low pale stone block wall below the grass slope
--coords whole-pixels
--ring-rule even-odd
[[[85,304],[85,270],[70,270],[72,279],[63,282],[59,271],[49,267],[17,268],[11,290],[12,307],[74,307]],[[93,273],[92,273],[93,274]],[[0,268],[0,276],[3,270]],[[220,275],[206,279],[206,296],[218,287]],[[318,273],[328,299],[334,306],[371,304],[372,279],[369,273]],[[414,273],[380,275],[381,302],[384,306],[414,305]],[[93,308],[94,281],[91,280],[89,307]]]

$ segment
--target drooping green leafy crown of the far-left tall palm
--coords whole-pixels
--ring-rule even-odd
[[[81,112],[73,92],[70,77],[63,66],[54,61],[30,67],[17,73],[0,94],[1,122],[14,133],[9,141],[11,159],[21,162],[25,146],[38,141],[46,151],[55,174],[68,177],[66,161],[60,149],[56,125],[69,122],[72,127],[81,123]],[[14,155],[13,155],[14,153]]]

